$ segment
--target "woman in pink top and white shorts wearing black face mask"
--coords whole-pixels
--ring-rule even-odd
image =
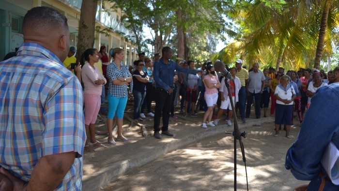
[[[205,85],[205,101],[207,104],[207,111],[205,112],[200,127],[207,128],[207,126],[215,127],[212,120],[213,109],[216,106],[216,101],[218,99],[218,90],[217,88],[221,87],[218,77],[216,77],[216,71],[212,64],[208,64],[206,71],[208,74],[203,78],[203,83]],[[206,124],[206,120],[207,124]]]

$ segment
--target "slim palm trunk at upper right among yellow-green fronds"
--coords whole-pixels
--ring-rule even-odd
[[[323,56],[324,39],[325,39],[325,34],[326,34],[326,29],[327,29],[327,18],[328,18],[329,8],[330,8],[330,4],[326,3],[324,6],[324,10],[323,10],[322,21],[320,23],[318,45],[317,45],[317,51],[315,53],[314,68],[316,69],[320,68],[320,61]]]

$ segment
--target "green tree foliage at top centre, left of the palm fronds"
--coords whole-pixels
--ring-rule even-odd
[[[217,39],[224,39],[224,33],[234,35],[231,30],[231,22],[226,22],[226,16],[230,10],[232,0],[110,0],[115,2],[115,10],[122,10],[122,22],[125,26],[138,26],[142,36],[144,27],[152,29],[154,36],[152,39],[140,40],[136,44],[142,46],[151,44],[153,46],[165,46],[171,42],[171,46],[177,46],[176,30],[182,28],[187,37],[187,46],[190,58],[200,58],[201,52],[207,53],[203,58],[209,57],[214,51],[213,44]],[[176,18],[175,12],[181,9],[183,18]],[[196,38],[214,36],[214,39],[195,40]],[[170,39],[172,38],[172,39]],[[209,49],[212,48],[212,49]],[[159,48],[158,48],[159,49]],[[155,49],[154,51],[158,51]]]

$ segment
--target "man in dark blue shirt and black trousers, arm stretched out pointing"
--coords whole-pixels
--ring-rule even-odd
[[[162,58],[154,63],[153,79],[155,81],[155,111],[154,111],[154,137],[161,139],[159,133],[160,117],[162,114],[162,132],[163,135],[170,137],[173,134],[168,130],[170,120],[170,107],[173,96],[173,78],[175,70],[183,73],[197,74],[197,70],[191,70],[181,67],[175,62],[171,61],[172,50],[170,47],[162,48]]]

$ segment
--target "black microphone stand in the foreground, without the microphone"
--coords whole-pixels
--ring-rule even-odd
[[[231,102],[231,108],[232,108],[232,111],[233,111],[233,120],[234,120],[233,132],[225,131],[225,133],[226,134],[232,134],[233,137],[234,137],[234,191],[236,191],[237,190],[237,152],[236,152],[237,151],[237,140],[239,140],[241,154],[243,156],[243,161],[245,162],[245,169],[246,169],[245,149],[244,149],[244,144],[241,140],[241,137],[246,138],[247,132],[244,131],[244,132],[240,133],[240,131],[239,131],[238,121],[237,121],[236,112],[235,112],[235,109],[234,109],[234,103],[233,103],[232,94],[231,94],[230,80],[227,79],[227,77],[225,77],[225,85],[227,87],[229,99],[230,99],[230,102]],[[235,90],[235,83],[234,83],[234,90]],[[246,176],[247,176],[247,173],[246,173]],[[248,183],[247,183],[247,191],[248,191]]]

